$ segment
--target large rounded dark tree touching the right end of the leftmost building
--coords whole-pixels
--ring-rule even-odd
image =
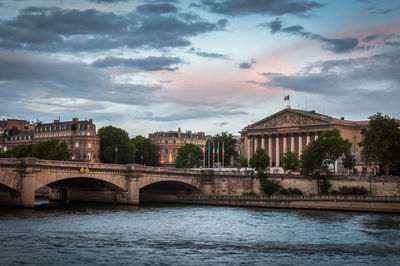
[[[116,158],[119,164],[133,162],[135,145],[130,141],[128,132],[107,126],[100,128],[97,135],[100,137],[100,159],[103,163],[115,163]]]

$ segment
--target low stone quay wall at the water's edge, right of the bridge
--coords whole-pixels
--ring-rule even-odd
[[[400,213],[400,196],[181,195],[177,200],[185,204]]]

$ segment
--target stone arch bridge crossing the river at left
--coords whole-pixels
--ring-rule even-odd
[[[116,165],[36,158],[0,159],[0,205],[34,207],[35,191],[50,188],[51,200],[139,204],[140,191],[178,183],[200,195],[243,195],[258,186],[243,172],[188,171],[137,164]],[[187,190],[187,191],[189,191]],[[189,192],[187,192],[189,193]]]

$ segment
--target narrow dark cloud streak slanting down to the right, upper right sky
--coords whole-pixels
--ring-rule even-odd
[[[279,24],[278,24],[279,22]],[[347,53],[355,49],[358,44],[358,38],[326,38],[320,34],[315,34],[304,30],[304,27],[300,25],[293,25],[286,28],[282,28],[280,21],[272,21],[269,23],[263,23],[259,26],[267,27],[271,30],[271,33],[284,32],[288,34],[299,35],[305,39],[317,40],[323,42],[325,45],[323,49],[329,50],[334,53]]]

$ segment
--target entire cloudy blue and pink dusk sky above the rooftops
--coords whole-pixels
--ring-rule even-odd
[[[0,0],[0,18],[0,118],[147,136],[238,135],[289,104],[400,117],[398,0]]]

